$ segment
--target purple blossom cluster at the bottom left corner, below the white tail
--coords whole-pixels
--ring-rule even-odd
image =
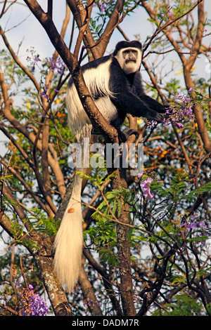
[[[46,301],[38,293],[34,293],[32,284],[20,296],[23,302],[22,316],[46,316],[49,313]]]

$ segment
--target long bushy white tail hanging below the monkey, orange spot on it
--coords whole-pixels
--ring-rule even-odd
[[[74,288],[82,263],[82,178],[75,176],[72,196],[65,210],[54,247],[54,269],[60,283],[69,292]]]

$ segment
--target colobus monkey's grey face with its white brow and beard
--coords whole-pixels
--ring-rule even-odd
[[[131,74],[139,70],[141,65],[141,49],[128,47],[117,52],[115,58],[125,74]]]

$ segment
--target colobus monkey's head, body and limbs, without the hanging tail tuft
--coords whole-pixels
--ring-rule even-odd
[[[127,114],[162,121],[160,113],[165,106],[150,98],[143,91],[141,82],[141,43],[120,41],[112,55],[98,58],[82,67],[84,80],[98,110],[120,133]],[[78,98],[75,85],[70,79],[67,90],[68,121],[70,131],[77,140],[89,136],[91,121]],[[127,136],[125,137],[127,138]]]

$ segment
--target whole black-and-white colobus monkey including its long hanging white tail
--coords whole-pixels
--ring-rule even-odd
[[[165,106],[143,91],[141,74],[141,43],[120,41],[112,55],[104,56],[82,66],[84,80],[92,98],[109,124],[113,125],[124,142],[130,131],[122,132],[127,114],[162,121]],[[68,83],[66,105],[68,124],[78,142],[89,137],[91,121],[79,100],[72,79]],[[61,284],[71,291],[77,282],[82,256],[82,178],[75,176],[72,197],[56,235],[55,270]]]

